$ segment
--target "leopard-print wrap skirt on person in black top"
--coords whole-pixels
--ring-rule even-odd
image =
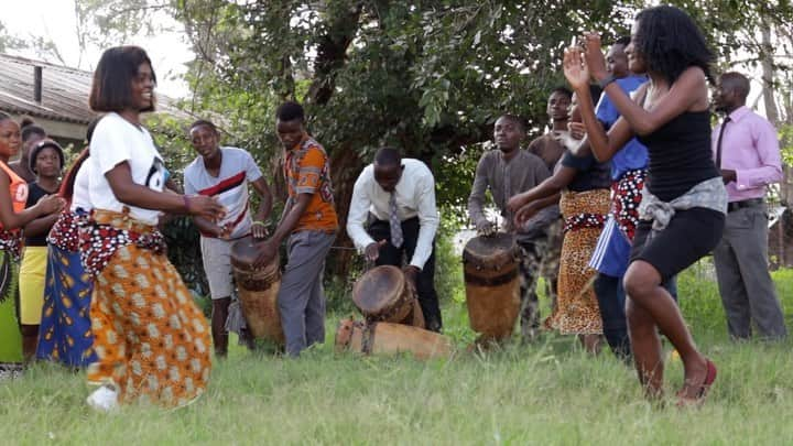
[[[608,214],[609,198],[609,189],[562,194],[560,209],[567,230],[562,243],[556,308],[545,326],[563,335],[602,334],[594,287],[597,271],[589,266],[589,259],[602,229],[597,221]],[[569,228],[572,220],[577,224]]]

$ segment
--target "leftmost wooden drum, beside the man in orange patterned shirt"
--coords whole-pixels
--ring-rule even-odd
[[[253,268],[258,253],[257,242],[248,236],[231,244],[231,269],[240,306],[248,330],[254,338],[270,339],[283,345],[285,339],[278,308],[278,292],[281,289],[279,255],[267,266]]]

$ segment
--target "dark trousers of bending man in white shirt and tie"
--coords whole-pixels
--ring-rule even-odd
[[[415,244],[419,240],[419,218],[410,218],[402,221],[402,235],[404,242],[401,248],[391,244],[391,226],[388,221],[374,220],[369,225],[369,236],[376,241],[387,240],[387,243],[380,248],[380,257],[377,264],[390,264],[402,268],[403,264],[410,262],[415,252]],[[419,293],[419,304],[424,313],[426,328],[433,331],[439,331],[443,326],[441,319],[441,306],[438,305],[437,293],[435,292],[435,246],[433,243],[433,252],[424,263],[424,268],[416,278],[416,292]]]

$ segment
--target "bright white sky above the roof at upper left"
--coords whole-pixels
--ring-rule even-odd
[[[67,66],[91,70],[101,56],[101,50],[89,50],[77,66],[80,54],[76,36],[76,20],[72,0],[0,0],[0,21],[9,34],[19,37],[45,36],[56,42]],[[184,64],[192,59],[189,45],[180,32],[157,36],[135,37],[126,44],[142,46],[149,53],[157,74],[157,90],[173,98],[188,94],[187,84],[178,79],[186,72]],[[34,51],[11,52],[14,55],[40,59]],[[59,61],[46,61],[61,64]]]

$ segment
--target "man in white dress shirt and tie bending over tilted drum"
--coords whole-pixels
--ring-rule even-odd
[[[402,266],[403,255],[409,259],[405,275],[419,294],[426,328],[433,331],[442,327],[434,253],[439,220],[430,168],[419,160],[402,159],[397,149],[380,149],[356,181],[347,233],[378,265]]]

